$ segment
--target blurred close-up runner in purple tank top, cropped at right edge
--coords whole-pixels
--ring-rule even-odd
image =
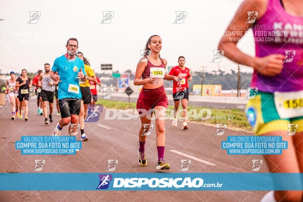
[[[237,48],[252,27],[256,57]],[[257,135],[281,136],[287,149],[265,155],[269,171],[303,171],[303,7],[300,0],[245,0],[219,43],[230,60],[254,68],[246,115]],[[291,180],[291,179],[289,179]],[[276,183],[283,180],[275,180]],[[270,191],[267,201],[301,201],[302,191]]]

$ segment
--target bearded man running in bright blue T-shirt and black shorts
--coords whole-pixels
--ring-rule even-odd
[[[57,124],[53,136],[59,136],[64,126],[71,122],[70,135],[78,133],[78,118],[81,109],[81,92],[79,80],[87,79],[84,63],[76,57],[78,40],[70,38],[66,44],[67,53],[54,62],[51,78],[58,81],[58,99],[61,119]]]

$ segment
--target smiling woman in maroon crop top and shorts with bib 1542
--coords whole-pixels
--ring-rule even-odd
[[[156,143],[158,150],[158,165],[156,169],[170,169],[168,163],[164,161],[165,148],[165,118],[168,106],[167,96],[164,90],[164,81],[174,80],[180,82],[178,77],[165,73],[167,61],[160,58],[162,39],[158,35],[150,36],[145,45],[144,57],[139,61],[136,69],[134,85],[143,85],[137,100],[137,111],[141,119],[139,130],[138,162],[141,166],[146,166],[145,140],[146,134],[150,133],[151,116],[153,111],[156,118]],[[142,77],[142,79],[141,79]]]

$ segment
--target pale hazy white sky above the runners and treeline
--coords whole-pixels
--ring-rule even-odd
[[[150,35],[163,40],[161,56],[168,66],[185,56],[186,67],[218,69],[211,63],[213,50],[242,0],[214,1],[0,1],[0,69],[7,73],[30,72],[53,65],[66,52],[68,38],[76,37],[79,51],[99,72],[100,64],[112,63],[114,70],[135,71]],[[28,24],[30,11],[40,11],[36,24]],[[100,24],[103,11],[113,11],[110,24]],[[185,11],[183,24],[173,24],[176,11]],[[252,32],[239,48],[255,55]],[[245,48],[245,49],[244,49]],[[224,58],[220,67],[236,65]],[[247,70],[247,69],[246,69]]]

